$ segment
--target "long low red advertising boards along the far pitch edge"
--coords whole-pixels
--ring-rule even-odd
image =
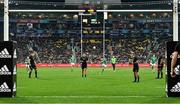
[[[17,64],[18,68],[25,67],[26,64]],[[37,67],[70,67],[71,64],[37,64]],[[77,64],[76,66],[80,66]],[[100,67],[101,64],[88,64],[88,67]],[[107,65],[111,67],[111,64]],[[132,67],[132,64],[116,64],[117,67]],[[150,67],[150,64],[139,64],[140,67]]]

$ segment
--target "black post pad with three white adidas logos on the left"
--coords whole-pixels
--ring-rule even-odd
[[[16,95],[16,59],[15,43],[0,42],[0,97]]]

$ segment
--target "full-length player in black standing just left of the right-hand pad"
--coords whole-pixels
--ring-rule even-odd
[[[163,66],[164,66],[164,61],[163,61],[163,57],[160,56],[158,59],[158,75],[157,75],[157,79],[159,78],[163,78]],[[161,77],[160,77],[161,75]]]

